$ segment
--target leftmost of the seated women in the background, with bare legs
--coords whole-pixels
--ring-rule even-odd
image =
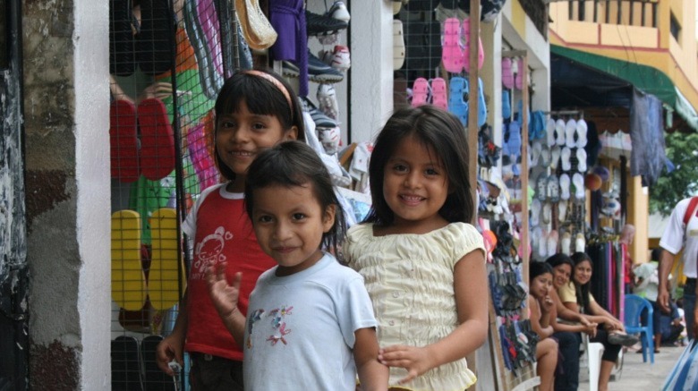
[[[558,341],[552,338],[550,312],[555,303],[550,299],[552,290],[552,268],[544,262],[529,265],[528,308],[531,311],[532,330],[541,338],[536,344],[536,373],[541,378],[541,391],[553,391],[553,378],[558,365]]]

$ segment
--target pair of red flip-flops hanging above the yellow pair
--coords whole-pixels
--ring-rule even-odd
[[[132,102],[115,100],[109,123],[113,178],[132,183],[142,174],[155,181],[174,170],[174,134],[160,99],[141,101],[138,111]]]

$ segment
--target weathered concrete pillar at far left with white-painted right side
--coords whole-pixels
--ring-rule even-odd
[[[30,388],[110,389],[109,4],[23,4]]]

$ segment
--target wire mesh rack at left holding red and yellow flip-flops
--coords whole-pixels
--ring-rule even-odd
[[[115,390],[188,389],[186,357],[175,378],[155,361],[186,288],[190,249],[180,222],[200,192],[219,182],[212,149],[218,90],[235,70],[251,68],[251,47],[268,45],[273,32],[247,29],[249,18],[238,25],[234,3],[241,2],[109,1]]]

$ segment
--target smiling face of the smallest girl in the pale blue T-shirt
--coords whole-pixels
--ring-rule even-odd
[[[252,196],[254,233],[261,249],[277,261],[277,276],[298,273],[322,258],[319,246],[335,222],[335,206],[322,210],[310,183],[271,185]]]

